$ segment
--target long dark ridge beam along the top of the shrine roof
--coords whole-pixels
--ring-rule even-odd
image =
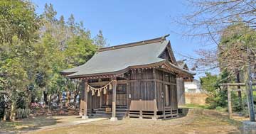
[[[114,45],[114,46],[107,47],[107,48],[100,48],[98,50],[98,52],[107,51],[107,50],[116,50],[116,49],[120,49],[120,48],[134,47],[134,46],[137,46],[137,45],[146,45],[146,44],[149,44],[149,43],[158,43],[158,42],[162,42],[162,41],[166,40],[166,37],[168,37],[169,35],[170,34],[161,36],[159,38],[153,38],[153,39],[149,39],[149,40],[142,40],[142,41],[138,41],[138,42],[134,42],[134,43],[127,43],[127,44],[122,44],[122,45]]]

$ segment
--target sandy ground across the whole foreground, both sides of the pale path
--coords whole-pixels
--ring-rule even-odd
[[[0,133],[241,133],[241,121],[230,120],[227,113],[203,108],[182,108],[179,118],[153,121],[150,119],[124,118],[119,121],[102,120],[81,123],[70,127],[78,116],[39,116],[15,122],[1,122]],[[54,125],[65,124],[62,127]],[[118,125],[118,127],[117,127]],[[53,127],[48,128],[48,127]],[[45,128],[38,130],[39,128]],[[161,128],[161,129],[159,129]],[[36,131],[30,131],[36,130]],[[210,130],[210,132],[209,132]],[[29,132],[30,131],[30,132]]]

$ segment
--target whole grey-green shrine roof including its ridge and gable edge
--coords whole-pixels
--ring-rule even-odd
[[[160,58],[159,55],[170,45],[169,40],[165,38],[166,36],[163,36],[137,43],[101,48],[84,65],[65,69],[62,73],[75,78],[100,74],[118,74],[137,66],[163,65],[166,63],[166,59]],[[174,57],[173,54],[170,56]],[[174,65],[170,63],[171,66],[176,66],[175,64],[176,60]],[[178,66],[174,68],[190,74]]]

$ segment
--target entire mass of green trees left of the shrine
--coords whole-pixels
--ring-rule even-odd
[[[60,70],[87,62],[96,45],[90,30],[76,23],[73,15],[65,22],[56,14],[52,4],[38,15],[29,1],[0,2],[0,90],[8,91],[12,113],[27,108],[43,92],[58,96],[79,91]]]

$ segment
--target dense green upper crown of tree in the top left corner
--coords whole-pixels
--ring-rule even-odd
[[[0,43],[11,43],[14,37],[28,42],[41,26],[40,17],[29,1],[1,0]]]

